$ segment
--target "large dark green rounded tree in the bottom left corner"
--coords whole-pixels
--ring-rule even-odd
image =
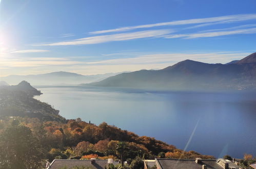
[[[0,136],[0,168],[40,168],[44,154],[32,132],[13,123]]]

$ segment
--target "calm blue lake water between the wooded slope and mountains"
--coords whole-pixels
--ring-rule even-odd
[[[182,150],[256,156],[256,93],[159,92],[92,87],[37,87],[36,97],[66,119],[108,124]]]

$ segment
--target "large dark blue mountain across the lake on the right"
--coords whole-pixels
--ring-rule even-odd
[[[122,73],[85,86],[164,90],[256,89],[256,53],[226,65],[184,60],[165,69]]]

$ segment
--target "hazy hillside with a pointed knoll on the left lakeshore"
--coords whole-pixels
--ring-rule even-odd
[[[51,105],[33,98],[42,93],[27,81],[0,87],[0,118],[9,116],[37,117],[42,120],[65,121]]]

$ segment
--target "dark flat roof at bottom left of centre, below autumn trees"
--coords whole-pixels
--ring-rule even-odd
[[[114,161],[113,164],[117,164],[117,161]],[[74,166],[85,166],[92,167],[97,169],[102,169],[105,165],[108,164],[108,160],[96,160],[94,164],[91,164],[91,160],[53,160],[49,166],[49,169],[58,169],[64,166],[68,168]]]

